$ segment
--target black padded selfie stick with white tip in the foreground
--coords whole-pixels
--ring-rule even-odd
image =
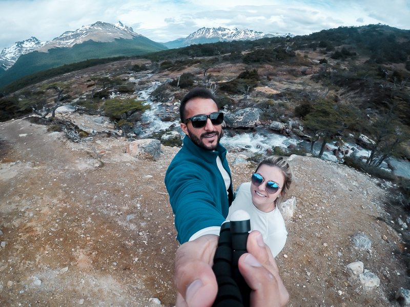
[[[218,247],[212,270],[218,283],[213,307],[249,307],[251,289],[239,272],[239,257],[247,253],[247,240],[251,230],[250,216],[243,210],[231,215],[230,222],[221,226]]]

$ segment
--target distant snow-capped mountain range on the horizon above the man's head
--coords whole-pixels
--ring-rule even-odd
[[[223,27],[219,28],[201,28],[194,33],[188,35],[185,39],[178,38],[173,41],[164,43],[168,48],[180,48],[187,47],[196,43],[208,43],[217,41],[232,41],[232,40],[255,40],[264,37],[286,37],[294,36],[292,34],[264,34],[263,32],[257,32],[253,30],[239,30],[239,29],[227,29]]]

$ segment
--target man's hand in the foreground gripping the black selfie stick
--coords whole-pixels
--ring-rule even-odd
[[[212,306],[218,286],[212,271],[218,236],[204,235],[182,244],[175,256],[174,283],[177,307]],[[258,231],[249,234],[239,270],[252,289],[251,307],[284,306],[289,300],[271,251]]]

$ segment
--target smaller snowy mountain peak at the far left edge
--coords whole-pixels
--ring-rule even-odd
[[[32,52],[35,49],[41,48],[47,42],[39,41],[34,36],[23,41],[17,41],[13,46],[4,48],[0,53],[0,67],[4,70],[9,69],[18,59],[20,55]]]

